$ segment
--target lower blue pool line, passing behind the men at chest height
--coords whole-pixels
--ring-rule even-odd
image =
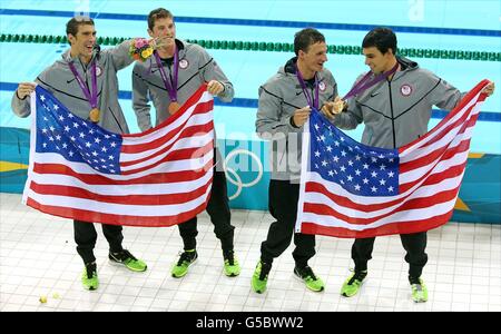
[[[0,91],[14,91],[19,84],[0,81]],[[132,92],[130,90],[118,91],[118,98],[122,100],[131,100]],[[257,109],[257,99],[234,98],[232,102],[225,104],[219,99],[214,99],[214,105],[222,107],[238,107]],[[442,119],[448,112],[441,109],[433,109],[432,118]],[[479,115],[481,121],[501,121],[501,112],[481,111]]]

